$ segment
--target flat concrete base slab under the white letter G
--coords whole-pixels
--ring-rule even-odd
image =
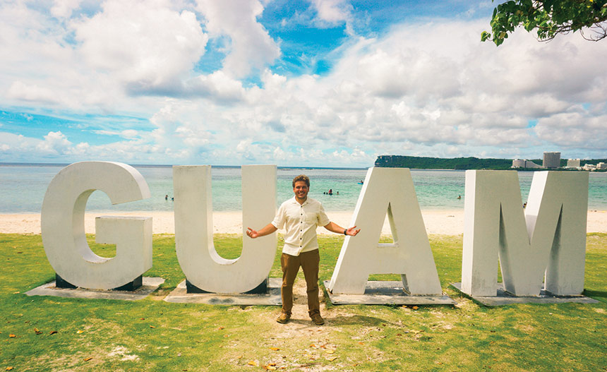
[[[142,285],[134,291],[120,291],[117,289],[86,289],[86,288],[59,288],[55,282],[42,284],[28,292],[28,296],[56,296],[70,299],[112,299],[135,301],[145,299],[154,292],[160,284],[164,283],[162,277],[143,277]]]

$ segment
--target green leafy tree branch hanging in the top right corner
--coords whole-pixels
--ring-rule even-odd
[[[481,32],[481,40],[499,46],[519,27],[536,30],[540,41],[576,31],[586,40],[603,40],[607,37],[607,0],[506,1],[493,9],[491,32]]]

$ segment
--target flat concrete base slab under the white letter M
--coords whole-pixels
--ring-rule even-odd
[[[503,283],[498,283],[498,294],[496,296],[470,296],[462,291],[462,283],[451,283],[451,287],[485,306],[503,306],[512,304],[564,304],[575,302],[577,304],[599,304],[599,301],[587,296],[556,296],[542,289],[539,296],[515,296],[504,290]]]

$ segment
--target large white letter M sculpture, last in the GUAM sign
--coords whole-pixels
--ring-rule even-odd
[[[539,296],[584,290],[587,172],[536,172],[523,208],[516,171],[467,171],[462,291]],[[544,281],[545,277],[545,281]]]

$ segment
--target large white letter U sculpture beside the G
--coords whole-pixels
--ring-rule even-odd
[[[276,212],[276,166],[242,167],[243,235],[265,226]],[[242,255],[222,258],[213,245],[210,165],[174,166],[175,246],[188,282],[207,292],[243,293],[268,278],[276,254],[276,234],[244,238]]]

